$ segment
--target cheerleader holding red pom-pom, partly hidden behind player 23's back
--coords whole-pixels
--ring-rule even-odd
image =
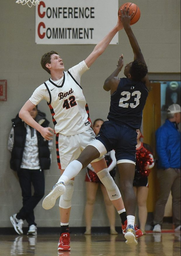
[[[133,180],[133,188],[138,205],[138,218],[140,229],[145,233],[145,224],[147,221],[147,197],[148,197],[148,175],[150,169],[154,166],[154,159],[151,147],[140,141],[143,135],[140,129],[137,129],[136,145],[136,166]]]

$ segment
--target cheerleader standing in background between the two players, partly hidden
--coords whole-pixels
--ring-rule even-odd
[[[92,128],[94,130],[95,135],[99,133],[100,127],[102,126],[103,123],[104,121],[101,118],[98,118],[94,121]],[[112,178],[114,179],[116,175],[116,164],[117,164],[116,158],[115,158],[115,151],[112,150],[111,152],[108,152],[107,154],[105,154],[105,159],[106,159],[108,171],[112,176]],[[91,234],[91,221],[93,216],[94,203],[95,203],[96,193],[100,184],[100,188],[101,188],[101,191],[104,197],[105,206],[106,206],[107,217],[110,223],[110,234],[116,235],[117,232],[115,230],[114,205],[109,199],[105,186],[100,181],[99,177],[97,176],[91,164],[87,166],[85,181],[86,181],[87,201],[85,206],[86,232],[84,234],[85,235]]]

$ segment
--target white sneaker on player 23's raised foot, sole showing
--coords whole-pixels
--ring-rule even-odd
[[[59,182],[54,185],[53,189],[50,191],[50,193],[43,199],[42,206],[44,209],[48,210],[51,209],[56,202],[56,199],[63,195],[65,192],[65,186],[63,182]]]

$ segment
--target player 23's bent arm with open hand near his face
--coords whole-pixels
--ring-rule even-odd
[[[111,75],[105,80],[103,88],[105,91],[111,90],[111,95],[117,90],[120,79],[117,77],[121,69],[123,68],[123,54],[119,57],[117,68],[113,71]]]

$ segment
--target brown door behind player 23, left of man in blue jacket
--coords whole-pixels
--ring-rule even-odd
[[[143,141],[152,147],[156,159],[155,131],[161,125],[161,90],[160,83],[150,83],[149,95],[143,110]],[[158,196],[158,183],[156,179],[156,164],[149,174],[149,192],[147,199],[148,212],[154,211]]]

